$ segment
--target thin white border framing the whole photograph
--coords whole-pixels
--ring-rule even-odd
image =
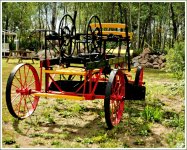
[[[17,1],[12,1],[12,0],[0,0],[0,17],[2,18],[2,2],[116,2],[115,0],[93,0],[93,1],[85,1],[85,0],[17,0]],[[185,135],[187,136],[187,129],[186,129],[186,126],[187,126],[187,87],[186,87],[186,79],[187,79],[187,45],[186,45],[186,39],[187,39],[187,26],[186,26],[186,19],[187,19],[187,2],[186,0],[117,0],[117,2],[185,2]],[[1,36],[2,36],[2,19],[0,19],[0,33],[1,33]],[[1,46],[1,49],[2,49],[2,38],[0,38],[0,46]],[[1,100],[1,103],[0,103],[0,115],[2,114],[2,53],[0,53],[0,93],[1,93],[1,96],[0,96],[0,100]],[[0,123],[0,149],[16,149],[16,148],[2,148],[2,115],[0,116],[1,117],[1,123]],[[187,149],[187,137],[185,136],[185,148],[128,148],[128,149],[160,149],[160,150],[164,150],[164,149],[176,149],[176,150],[179,150],[179,149]],[[30,150],[33,150],[33,149],[59,149],[59,148],[20,148],[20,149],[30,149]],[[60,148],[62,149],[62,148]],[[72,149],[72,148],[64,148],[64,149]],[[76,149],[83,149],[83,148],[76,148]],[[85,148],[85,149],[88,149],[88,148]],[[91,148],[91,149],[95,149],[95,148]],[[102,149],[102,148],[98,148],[98,149]],[[111,148],[105,148],[105,149],[111,149]],[[115,149],[121,149],[121,148],[115,148]],[[127,148],[124,148],[124,149],[127,149]]]

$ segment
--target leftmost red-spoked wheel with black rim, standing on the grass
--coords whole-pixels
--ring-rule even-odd
[[[41,86],[36,69],[30,64],[19,64],[11,72],[6,86],[6,103],[10,114],[18,119],[30,116],[39,97],[31,95]]]

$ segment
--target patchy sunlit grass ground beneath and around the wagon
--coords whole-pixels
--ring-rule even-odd
[[[2,142],[4,148],[182,148],[185,147],[184,81],[145,69],[145,101],[125,101],[120,124],[106,129],[103,100],[40,98],[31,117],[14,119],[5,90],[17,60],[2,60]],[[30,60],[27,62],[31,63]],[[39,70],[39,62],[33,64]]]

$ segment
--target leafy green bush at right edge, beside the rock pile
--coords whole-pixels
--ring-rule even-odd
[[[178,79],[184,79],[185,75],[185,44],[176,42],[174,48],[167,49],[166,70],[172,72]]]

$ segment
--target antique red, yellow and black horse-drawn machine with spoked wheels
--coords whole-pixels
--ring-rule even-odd
[[[41,30],[45,33],[45,58],[40,60],[39,73],[28,63],[18,64],[10,73],[6,103],[13,117],[30,116],[40,97],[103,99],[105,120],[111,129],[122,119],[125,100],[145,99],[143,68],[136,68],[135,79],[130,73],[132,33],[127,23],[101,23],[94,15],[86,32],[77,33],[75,19],[76,13],[74,17],[65,14],[58,33]],[[58,41],[58,50],[54,48],[57,55],[48,57],[53,41]],[[108,42],[118,45],[117,52],[107,48]]]

